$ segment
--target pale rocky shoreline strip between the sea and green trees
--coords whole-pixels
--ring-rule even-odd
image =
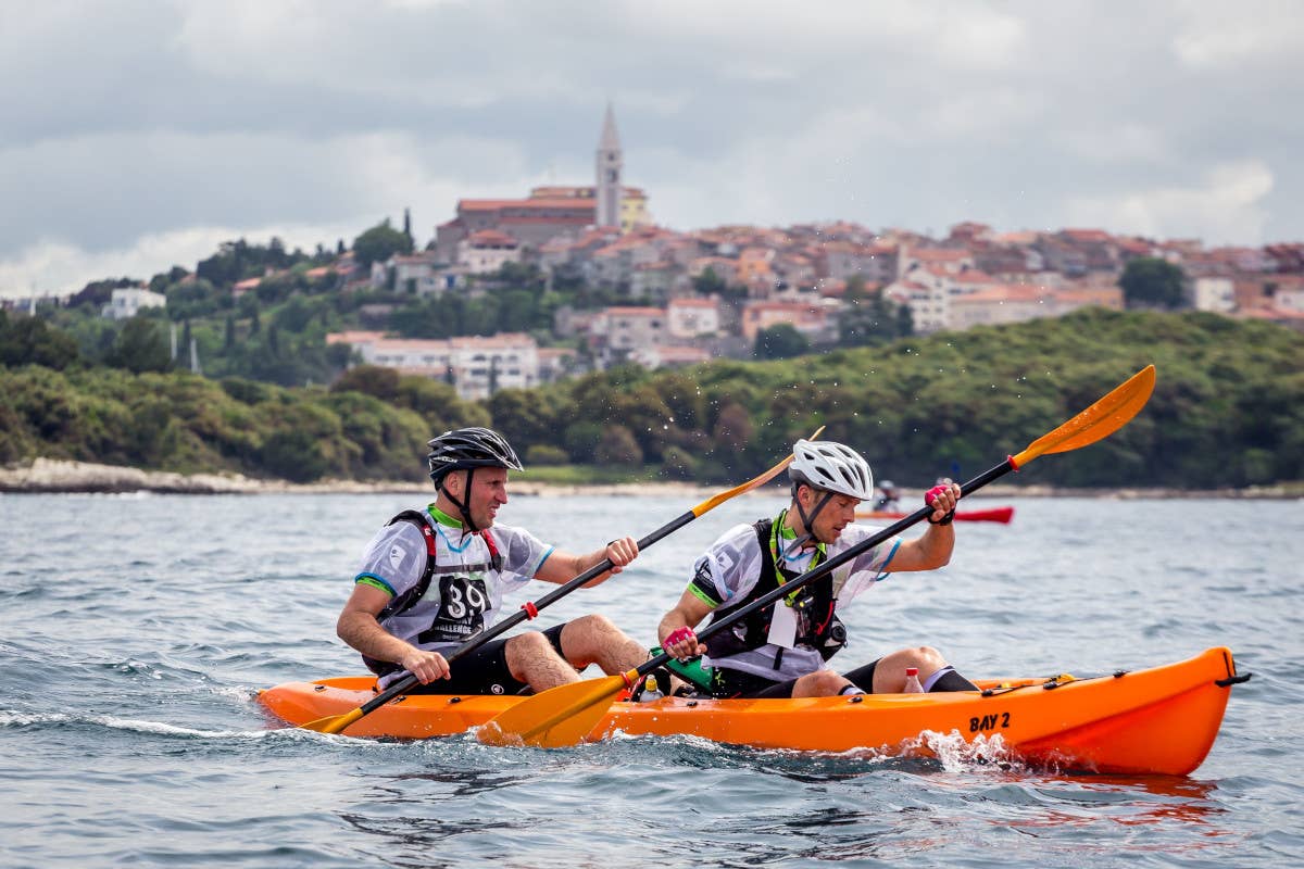
[[[567,486],[514,479],[512,494],[557,498],[563,495],[682,495],[709,498],[724,483],[703,486],[687,482],[635,482],[593,486]],[[775,494],[777,487],[763,487],[747,495]],[[256,479],[241,474],[180,474],[164,470],[142,470],[119,465],[96,465],[83,461],[37,459],[29,465],[0,466],[0,492],[10,494],[126,494],[158,492],[173,495],[273,495],[273,494],[432,494],[426,481],[363,482],[323,479],[314,483],[292,483],[283,479]],[[904,490],[909,498],[915,494]],[[1253,486],[1248,489],[1065,489],[1059,486],[1009,486],[995,483],[983,489],[982,498],[1237,498],[1237,499],[1304,499],[1304,483]]]

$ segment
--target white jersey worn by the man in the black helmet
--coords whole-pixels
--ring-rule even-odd
[[[422,513],[434,532],[436,571],[421,593],[426,543],[421,529],[409,521],[386,525],[366,546],[355,582],[373,585],[390,594],[398,612],[382,612],[381,627],[419,649],[447,653],[490,627],[502,610],[505,594],[528,584],[552,555],[553,548],[529,532],[494,525],[493,538],[501,560],[492,554],[480,534],[463,534]],[[398,677],[387,672],[382,685]]]

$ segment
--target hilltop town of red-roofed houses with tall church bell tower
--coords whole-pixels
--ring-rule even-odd
[[[623,173],[608,108],[593,184],[460,199],[424,250],[363,262],[342,242],[334,257],[319,249],[316,264],[295,276],[318,291],[389,293],[389,301],[361,306],[359,328],[330,332],[325,343],[347,345],[353,361],[443,379],[463,399],[623,362],[660,369],[793,356],[1090,306],[1187,307],[1304,328],[1304,244],[1209,249],[1198,240],[1099,228],[1004,232],[981,223],[961,223],[944,237],[845,221],[681,232],[656,225],[651,195],[625,184]],[[402,233],[413,238],[408,219]],[[1168,267],[1179,297],[1129,298],[1125,275],[1136,263]],[[389,327],[395,297],[475,300],[502,292],[509,275],[537,276],[542,293],[579,292],[557,307],[546,335],[468,328],[422,337]],[[164,281],[171,288],[196,279],[172,278]],[[222,292],[239,301],[286,279],[269,267]],[[172,291],[154,285],[113,289],[103,315],[128,319],[168,306]],[[601,291],[597,302],[583,304],[585,289]],[[198,367],[193,349],[192,365]]]

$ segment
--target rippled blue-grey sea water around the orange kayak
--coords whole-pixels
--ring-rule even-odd
[[[361,671],[335,618],[419,498],[0,495],[0,866],[1304,865],[1304,503],[969,503],[1015,519],[850,605],[835,663],[927,644],[973,676],[1086,675],[1227,645],[1254,677],[1198,770],[284,728],[256,692]],[[604,612],[651,645],[692,559],[781,504],[729,502],[535,624]],[[499,521],[592,551],[691,506],[516,496]]]

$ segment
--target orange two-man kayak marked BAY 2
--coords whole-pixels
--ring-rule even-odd
[[[613,702],[588,735],[691,735],[717,743],[815,752],[932,754],[931,735],[979,737],[1018,760],[1063,770],[1184,775],[1209,753],[1237,676],[1228,649],[1106,676],[979,681],[981,692],[801,700]],[[287,683],[258,701],[291,724],[369,701],[370,676]],[[480,727],[523,697],[408,694],[352,723],[348,736],[425,739]],[[922,737],[922,739],[921,739]]]

